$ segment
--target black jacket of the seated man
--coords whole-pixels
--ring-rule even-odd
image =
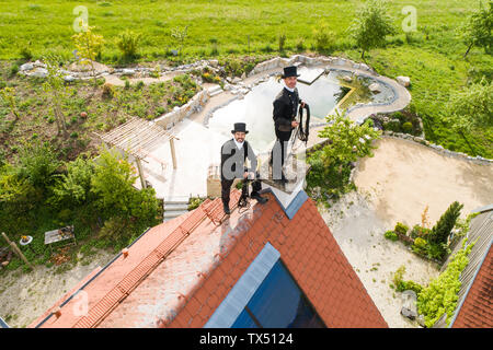
[[[245,166],[246,158],[250,168]],[[234,140],[228,140],[221,147],[221,179],[243,178],[244,172],[255,172],[256,155],[249,142],[244,141],[238,150]]]

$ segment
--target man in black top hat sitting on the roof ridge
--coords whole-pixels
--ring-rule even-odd
[[[221,147],[221,199],[225,213],[229,214],[229,194],[234,178],[254,178],[252,182],[251,198],[256,199],[260,203],[265,203],[266,198],[260,196],[259,191],[262,186],[256,173],[256,155],[252,147],[244,140],[246,133],[246,125],[244,122],[236,122],[234,129],[231,130],[233,138],[226,141]],[[246,158],[250,161],[250,168],[245,166]]]

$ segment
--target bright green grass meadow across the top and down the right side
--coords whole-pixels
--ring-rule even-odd
[[[88,9],[89,25],[103,35],[105,46],[100,60],[121,61],[115,44],[118,33],[133,30],[142,34],[140,61],[168,58],[191,61],[211,56],[257,56],[277,54],[278,36],[286,35],[286,51],[313,51],[313,30],[325,22],[335,34],[333,47],[325,52],[360,60],[347,28],[363,1],[0,1],[0,59],[34,58],[56,51],[72,59],[73,9]],[[410,40],[401,30],[402,8],[414,5],[417,31]],[[456,33],[478,0],[392,1],[390,14],[399,30],[383,48],[368,52],[367,62],[381,74],[409,75],[412,81],[411,108],[424,121],[426,138],[450,150],[493,158],[491,128],[474,130],[466,138],[442,121],[440,114],[449,93],[469,81],[492,78],[493,59],[473,48],[462,59],[466,45]],[[170,55],[179,43],[172,30],[188,26],[183,55]]]

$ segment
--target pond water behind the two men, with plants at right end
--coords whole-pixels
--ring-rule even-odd
[[[381,82],[379,82],[381,92],[372,94],[368,86],[375,80],[369,77],[353,77],[352,82],[346,82],[343,80],[344,75],[351,75],[351,72],[330,71],[320,75],[311,85],[298,81],[299,96],[310,106],[311,126],[325,122],[324,117],[333,113],[337,104],[348,108],[357,103],[386,103],[393,97],[391,88]],[[253,86],[244,98],[236,100],[217,109],[208,120],[209,128],[231,136],[234,122],[245,122],[250,131],[246,140],[253,149],[257,152],[268,151],[276,138],[273,101],[282,89],[284,82],[271,77],[267,81]]]

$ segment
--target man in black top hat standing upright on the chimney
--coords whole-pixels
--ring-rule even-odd
[[[280,77],[284,80],[285,86],[277,94],[274,100],[274,129],[276,132],[276,144],[272,151],[271,164],[273,164],[273,177],[286,180],[284,173],[282,172],[284,161],[287,153],[287,143],[291,137],[293,130],[298,126],[296,121],[296,115],[298,114],[298,105],[305,106],[305,102],[299,98],[298,89],[296,88],[297,79],[299,74],[297,73],[296,66],[289,66],[284,68],[284,73]],[[279,152],[280,151],[280,152]],[[280,154],[279,154],[280,153]],[[278,167],[278,160],[275,158],[280,155],[280,168]],[[276,168],[274,168],[276,167]]]

